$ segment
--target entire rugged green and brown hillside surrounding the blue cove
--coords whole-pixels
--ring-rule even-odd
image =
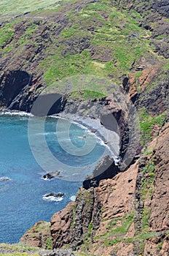
[[[43,89],[61,95],[55,113],[95,119],[104,107],[123,159],[130,99],[141,132],[123,172],[113,163],[84,181],[76,202],[21,243],[67,250],[53,255],[168,256],[168,1],[2,0],[0,8],[1,110],[30,112]]]

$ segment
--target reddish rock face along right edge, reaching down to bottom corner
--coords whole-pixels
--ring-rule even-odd
[[[154,143],[155,184],[149,230],[160,233],[160,237],[146,241],[144,256],[168,256],[169,238],[166,232],[169,230],[169,124],[162,128]]]

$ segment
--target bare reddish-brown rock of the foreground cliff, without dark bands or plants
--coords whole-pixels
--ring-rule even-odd
[[[165,127],[162,128],[160,135],[151,143],[151,146],[155,145],[155,153],[153,156],[154,163],[156,165],[154,193],[151,199],[147,197],[145,203],[143,201],[142,208],[144,209],[145,204],[145,207],[150,207],[151,209],[149,230],[146,232],[154,232],[157,233],[157,235],[155,235],[154,238],[146,238],[144,240],[145,256],[167,256],[168,252],[168,237],[166,236],[166,230],[168,230],[168,135],[169,124],[166,124]],[[149,159],[151,159],[151,156]],[[93,189],[93,195],[95,195],[93,198],[97,197],[98,201],[101,202],[101,215],[98,226],[93,227],[92,244],[90,244],[88,247],[85,245],[87,252],[91,252],[93,254],[95,253],[96,255],[110,255],[110,253],[116,252],[116,255],[119,256],[127,256],[135,253],[135,246],[137,245],[135,245],[134,242],[128,243],[127,239],[130,238],[135,241],[135,236],[138,236],[140,239],[142,238],[141,235],[139,236],[139,233],[136,235],[135,221],[137,220],[133,218],[130,222],[127,218],[131,213],[135,212],[135,209],[138,211],[138,209],[135,208],[135,204],[137,204],[137,200],[139,200],[139,198],[135,199],[135,189],[136,186],[138,186],[136,185],[137,182],[138,162],[135,162],[135,164],[131,165],[130,168],[124,173],[119,173],[114,178],[102,180],[97,188],[91,188]],[[90,189],[87,191],[89,193]],[[86,238],[87,231],[84,229],[84,223],[86,224],[86,228],[87,218],[89,217],[87,207],[90,208],[90,214],[93,216],[91,209],[94,211],[95,200],[92,202],[90,201],[91,204],[89,204],[87,196],[85,195],[84,199],[84,195],[85,192],[84,189],[82,189],[77,195],[78,199],[76,203],[68,205],[65,210],[60,211],[60,213],[57,213],[54,215],[54,217],[52,217],[52,236],[54,241],[60,241],[60,245],[58,244],[59,247],[62,246],[62,243],[68,243],[68,238],[69,241],[74,241],[74,235],[78,230],[77,225],[79,222],[81,222],[81,227],[83,230],[79,238],[81,239],[81,242]],[[90,195],[91,199],[91,194],[88,195]],[[79,198],[81,199],[79,200]],[[82,211],[77,210],[80,208],[79,202],[82,203]],[[93,208],[91,208],[91,206]],[[72,207],[74,210],[72,210]],[[75,221],[76,225],[74,225],[74,218],[72,219],[72,211],[74,211],[74,218],[79,219],[79,222]],[[99,211],[98,208],[97,211]],[[84,221],[84,219],[86,220]],[[93,222],[93,217],[90,218],[90,223],[91,222]],[[119,231],[120,228],[125,227],[125,222],[128,222],[129,226],[125,232]],[[113,228],[110,228],[110,225],[114,225]],[[143,224],[141,224],[140,230],[143,229],[142,225]],[[74,230],[74,232],[71,231],[71,229]],[[114,239],[119,239],[119,243],[111,244],[111,241],[114,241]],[[105,245],[105,243],[108,244]]]

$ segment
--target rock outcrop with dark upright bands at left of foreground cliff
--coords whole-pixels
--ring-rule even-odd
[[[100,213],[101,202],[97,189],[79,189],[76,202],[69,203],[51,219],[53,247],[60,248],[71,244],[71,247],[76,249],[89,233],[89,225],[94,233],[100,221]]]

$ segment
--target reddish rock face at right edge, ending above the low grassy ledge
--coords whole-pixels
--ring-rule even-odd
[[[154,148],[155,188],[152,197],[150,230],[169,229],[169,124],[162,128]]]

